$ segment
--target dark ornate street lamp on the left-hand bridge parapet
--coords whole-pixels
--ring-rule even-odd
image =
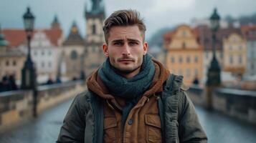
[[[34,63],[31,59],[31,47],[30,41],[32,39],[32,33],[34,29],[34,16],[30,11],[29,7],[27,8],[27,12],[23,15],[24,19],[24,29],[27,34],[27,44],[28,44],[28,54],[27,60],[24,63],[24,67],[22,69],[22,89],[35,89],[37,84],[36,79],[36,70],[34,67]]]

